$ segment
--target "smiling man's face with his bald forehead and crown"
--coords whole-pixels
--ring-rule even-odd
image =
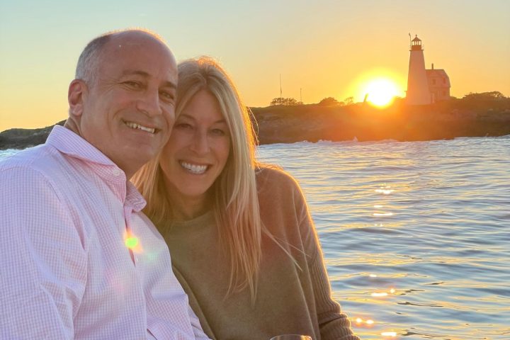
[[[143,33],[112,37],[84,91],[79,133],[128,178],[168,140],[175,119],[177,67],[171,52]]]

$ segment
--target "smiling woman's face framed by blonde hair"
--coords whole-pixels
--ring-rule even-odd
[[[171,198],[204,201],[229,157],[230,135],[220,105],[201,90],[176,119],[161,167]]]

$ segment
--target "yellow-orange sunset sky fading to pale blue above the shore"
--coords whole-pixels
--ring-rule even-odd
[[[510,96],[510,1],[0,0],[0,131],[67,117],[67,86],[83,47],[109,30],[142,27],[178,60],[210,55],[248,106],[280,96],[362,101],[392,80],[404,96],[409,35],[426,67],[446,69],[450,93]]]

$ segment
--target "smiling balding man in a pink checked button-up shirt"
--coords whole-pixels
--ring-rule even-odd
[[[128,181],[171,132],[174,56],[110,33],[76,78],[64,128],[0,163],[0,339],[206,339]]]

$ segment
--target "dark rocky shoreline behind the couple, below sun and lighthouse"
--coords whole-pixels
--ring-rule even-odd
[[[251,108],[259,144],[319,140],[445,140],[455,137],[510,135],[510,98],[461,99],[426,106],[398,101],[380,109],[350,106],[268,106]],[[64,120],[57,123],[63,125]],[[45,142],[52,126],[0,132],[0,149],[24,149]]]

